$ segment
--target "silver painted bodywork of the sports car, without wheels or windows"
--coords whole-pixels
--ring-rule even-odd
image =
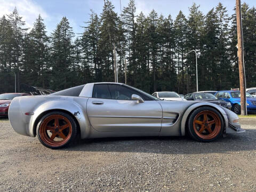
[[[235,113],[213,103],[162,100],[139,103],[137,100],[95,99],[92,98],[94,84],[86,84],[79,97],[45,95],[14,98],[9,108],[11,126],[19,134],[35,137],[36,122],[43,114],[63,110],[76,119],[82,139],[180,136],[186,134],[190,113],[198,107],[209,106],[220,112],[227,133],[243,131],[238,123],[233,123],[238,119]],[[25,115],[27,112],[34,115]],[[230,129],[229,125],[235,126],[237,131]]]

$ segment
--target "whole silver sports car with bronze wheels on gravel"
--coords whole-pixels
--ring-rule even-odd
[[[49,148],[79,138],[182,136],[213,141],[243,132],[238,116],[210,102],[164,101],[122,83],[88,83],[50,95],[14,98],[13,129]]]

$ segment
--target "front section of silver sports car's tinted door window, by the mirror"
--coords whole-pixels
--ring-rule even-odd
[[[137,94],[140,95],[140,97],[143,98],[143,96],[137,92],[133,91],[125,86],[121,85],[109,85],[109,90],[111,94],[111,99],[116,99],[116,100],[132,100],[132,94]]]

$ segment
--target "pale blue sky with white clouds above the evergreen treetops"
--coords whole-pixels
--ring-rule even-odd
[[[111,1],[115,6],[115,11],[120,13],[120,0]],[[158,14],[165,17],[171,14],[172,18],[178,15],[181,10],[186,16],[189,14],[188,7],[193,2],[200,5],[200,10],[206,14],[213,7],[221,2],[227,7],[228,14],[234,13],[235,0],[135,0],[136,13],[141,11],[148,14],[155,10]],[[241,3],[247,3],[250,7],[256,7],[256,0],[241,0]],[[121,0],[121,7],[127,6],[129,0]],[[100,14],[103,9],[103,0],[0,0],[0,17],[3,14],[10,14],[14,7],[17,7],[19,14],[26,21],[26,27],[32,28],[33,23],[39,14],[44,19],[46,30],[51,33],[60,22],[61,18],[66,16],[73,27],[74,33],[82,33],[85,21],[89,20],[90,10]]]

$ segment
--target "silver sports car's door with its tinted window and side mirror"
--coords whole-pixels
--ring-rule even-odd
[[[132,100],[138,94],[140,103]],[[119,84],[94,84],[87,101],[87,115],[92,127],[100,132],[160,132],[162,107],[156,100]]]

